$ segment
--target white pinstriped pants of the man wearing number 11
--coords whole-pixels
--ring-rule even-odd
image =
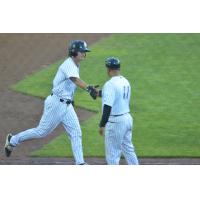
[[[105,127],[105,151],[108,165],[119,165],[121,154],[128,165],[138,165],[132,143],[133,119],[131,115],[110,116]]]

